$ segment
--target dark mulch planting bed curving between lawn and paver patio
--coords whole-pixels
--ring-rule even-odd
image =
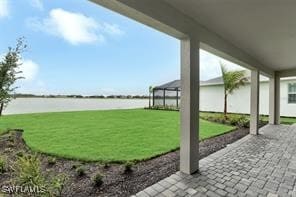
[[[241,128],[201,141],[201,157],[220,150],[248,132],[248,129]],[[82,162],[36,153],[16,134],[10,132],[0,136],[0,155],[5,158],[5,170],[0,176],[2,186],[18,180],[18,174],[12,168],[26,155],[36,155],[40,160],[40,174],[49,179],[47,182],[54,177],[65,176],[65,180],[60,180],[59,187],[48,186],[57,196],[129,196],[179,169],[178,150],[136,164]],[[95,181],[94,177],[98,175],[99,179]]]

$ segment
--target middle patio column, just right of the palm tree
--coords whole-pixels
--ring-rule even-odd
[[[250,133],[258,135],[259,131],[259,70],[251,71],[251,114]]]

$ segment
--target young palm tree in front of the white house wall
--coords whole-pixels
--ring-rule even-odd
[[[227,97],[234,90],[246,84],[248,78],[245,76],[245,70],[227,70],[227,66],[220,62],[222,78],[224,82],[224,116],[227,118]]]

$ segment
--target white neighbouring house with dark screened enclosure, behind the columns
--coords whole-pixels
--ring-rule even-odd
[[[296,116],[296,78],[281,79],[280,87],[281,116]],[[156,86],[153,89],[154,106],[180,105],[180,80]],[[200,82],[200,110],[223,112],[224,85],[222,77]],[[267,78],[260,80],[260,114],[268,115],[269,83]],[[250,113],[250,83],[235,90],[228,97],[228,111],[233,113]]]

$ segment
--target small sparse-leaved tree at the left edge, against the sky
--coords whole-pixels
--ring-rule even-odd
[[[18,71],[21,65],[21,53],[27,48],[24,38],[17,40],[15,48],[9,47],[3,60],[0,61],[0,116],[4,107],[13,98],[13,92],[17,87],[13,86],[20,77],[21,71]]]

